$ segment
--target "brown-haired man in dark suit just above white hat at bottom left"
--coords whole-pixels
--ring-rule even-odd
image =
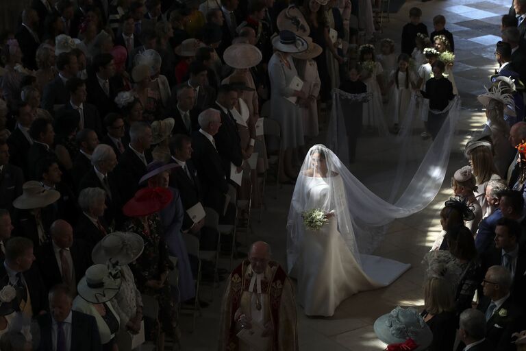
[[[34,261],[33,242],[27,238],[12,238],[5,244],[5,260],[0,265],[1,286],[9,284],[16,289],[14,308],[31,317],[48,308],[46,289]],[[29,301],[31,303],[27,303]]]

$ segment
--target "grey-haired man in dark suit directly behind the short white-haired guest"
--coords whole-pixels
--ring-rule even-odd
[[[117,157],[112,147],[108,145],[98,145],[91,155],[92,168],[84,175],[80,181],[79,189],[100,188],[105,191],[106,211],[104,218],[109,226],[114,227],[112,222],[121,224],[121,194],[119,193],[118,180],[114,174],[117,165]]]

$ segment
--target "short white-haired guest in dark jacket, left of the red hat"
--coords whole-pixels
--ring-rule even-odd
[[[84,241],[89,250],[109,232],[104,219],[105,199],[106,193],[101,188],[86,188],[79,193],[82,215],[75,226],[75,239]]]

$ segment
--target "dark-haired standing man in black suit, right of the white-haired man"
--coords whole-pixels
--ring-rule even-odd
[[[238,91],[236,88],[231,85],[222,85],[217,91],[216,103],[213,106],[221,112],[221,127],[214,135],[214,140],[216,141],[217,152],[223,160],[223,169],[227,178],[230,178],[231,165],[236,166],[237,171],[240,172],[243,163],[238,125],[230,112],[237,100]],[[254,139],[251,139],[251,147],[254,143]]]

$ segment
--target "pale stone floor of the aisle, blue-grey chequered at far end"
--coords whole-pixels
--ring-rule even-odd
[[[408,21],[409,9],[418,6],[423,10],[423,19],[429,32],[432,32],[432,18],[443,14],[447,19],[447,29],[455,37],[455,81],[462,97],[461,121],[458,123],[453,141],[449,167],[442,190],[429,206],[405,219],[399,219],[390,225],[385,241],[375,254],[410,263],[412,268],[389,287],[366,291],[353,295],[345,300],[334,317],[309,318],[303,315],[301,306],[297,306],[299,345],[301,351],[368,351],[384,350],[385,345],[378,341],[373,332],[375,319],[388,313],[397,305],[423,306],[421,260],[429,250],[440,231],[438,212],[444,200],[451,195],[449,189],[453,172],[466,165],[462,149],[470,132],[480,128],[484,123],[484,114],[477,103],[476,95],[484,92],[488,85],[488,76],[496,68],[494,62],[494,45],[499,38],[501,14],[508,13],[509,0],[476,1],[476,0],[433,0],[427,3],[407,1],[397,14],[391,14],[390,23],[384,28],[382,36],[392,38],[399,43],[401,27]],[[322,134],[318,142],[323,143]],[[381,159],[381,152],[374,145],[381,143],[375,138],[362,138],[363,145],[357,162],[351,171],[379,195],[388,191],[378,178],[371,178],[371,173],[380,173],[382,178],[392,175],[392,164]],[[386,178],[384,178],[386,179]],[[385,183],[384,183],[385,184]],[[253,232],[247,242],[264,240],[271,244],[274,259],[286,262],[286,218],[293,186],[283,186],[277,199],[273,198],[275,188],[268,186],[262,221],[253,221]],[[255,216],[257,217],[257,216]],[[244,238],[242,238],[244,239]],[[222,267],[228,268],[227,259],[221,261]],[[195,332],[190,332],[191,318],[181,315],[183,332],[181,346],[183,350],[215,350],[218,340],[218,321],[221,297],[224,285],[213,292],[214,300],[208,308],[203,308],[197,318]],[[210,289],[203,288],[201,298],[210,296]]]

